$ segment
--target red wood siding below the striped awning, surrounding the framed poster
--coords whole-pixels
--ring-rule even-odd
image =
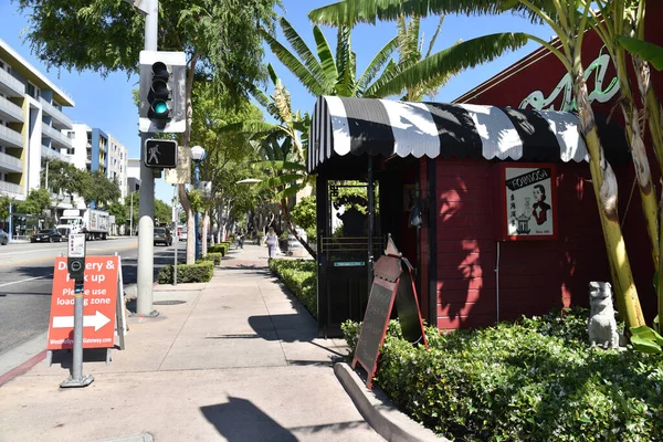
[[[628,176],[627,166],[630,167],[618,167],[618,172]],[[587,306],[587,284],[610,281],[587,164],[558,164],[557,168],[559,238],[499,242],[501,320],[540,315],[562,305]],[[440,328],[488,326],[497,319],[495,228],[502,220],[494,204],[494,199],[501,198],[496,173],[498,167],[485,160],[436,160]],[[635,199],[636,194],[631,206],[639,208]],[[633,208],[627,211],[627,204],[628,201],[620,202],[622,219],[628,213],[624,229],[641,218]],[[422,246],[428,243],[427,234],[423,228]],[[629,234],[642,236],[641,231]],[[632,254],[634,269],[646,266],[646,253]],[[422,260],[428,262],[423,253]],[[427,266],[422,266],[422,281],[427,278]]]

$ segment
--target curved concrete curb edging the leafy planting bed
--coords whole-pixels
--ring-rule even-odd
[[[357,372],[346,362],[334,365],[334,373],[340,381],[359,413],[373,430],[393,442],[451,442],[439,438],[431,430],[414,422],[399,411],[378,387],[369,390]]]

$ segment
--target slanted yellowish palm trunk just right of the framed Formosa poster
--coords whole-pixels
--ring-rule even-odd
[[[624,238],[619,224],[617,177],[603,156],[594,115],[587,94],[580,54],[579,51],[576,52],[571,73],[573,92],[578,105],[580,127],[589,151],[589,168],[603,229],[608,262],[613,276],[614,294],[619,308],[623,308],[622,315],[628,327],[636,327],[644,325],[644,318],[635,283],[633,282]]]

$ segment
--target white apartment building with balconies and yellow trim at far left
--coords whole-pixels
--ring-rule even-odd
[[[0,39],[0,193],[24,200],[48,159],[71,161],[74,101]],[[65,133],[63,133],[63,130]],[[71,134],[73,136],[73,134]],[[65,200],[62,208],[71,207]]]

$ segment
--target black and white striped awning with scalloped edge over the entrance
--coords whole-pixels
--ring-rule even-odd
[[[588,160],[578,117],[567,112],[320,96],[308,139],[308,171],[347,154]]]

